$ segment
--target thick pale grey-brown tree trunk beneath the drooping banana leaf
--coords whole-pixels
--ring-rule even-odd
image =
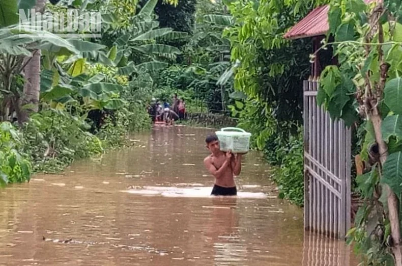
[[[47,0],[37,0],[35,5],[36,12],[43,14]],[[40,93],[40,71],[41,71],[41,52],[33,51],[32,56],[26,57],[24,63],[30,60],[23,69],[25,84],[21,99],[21,105],[29,104],[24,109],[20,106],[18,120],[20,123],[26,122],[29,112],[38,112],[39,93]]]

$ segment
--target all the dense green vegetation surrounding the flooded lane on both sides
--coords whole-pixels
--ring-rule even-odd
[[[151,97],[177,93],[187,111],[238,118],[274,166],[280,197],[303,206],[302,82],[312,43],[283,34],[330,4],[332,43],[320,52],[340,65],[323,71],[318,100],[356,126],[353,152],[369,162],[355,180],[364,205],[350,240],[368,265],[401,265],[400,1],[55,2],[0,2],[0,184],[124,145],[128,132],[150,126]],[[34,6],[100,12],[102,37],[21,32],[17,9]]]

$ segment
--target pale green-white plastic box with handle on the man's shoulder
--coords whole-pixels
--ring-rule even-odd
[[[224,127],[215,131],[221,151],[232,150],[234,153],[247,153],[250,149],[251,133],[238,127]]]

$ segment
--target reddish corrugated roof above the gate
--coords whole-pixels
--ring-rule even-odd
[[[376,0],[364,0],[370,3]],[[381,0],[380,0],[381,1]],[[306,37],[314,37],[324,35],[329,30],[328,25],[328,10],[329,5],[321,6],[313,9],[307,16],[294,25],[283,36],[285,39],[300,39]]]

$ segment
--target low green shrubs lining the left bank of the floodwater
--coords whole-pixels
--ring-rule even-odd
[[[128,132],[147,129],[150,119],[139,102],[114,112],[92,134],[85,116],[49,109],[32,114],[23,128],[0,124],[0,185],[24,182],[32,173],[58,173],[75,160],[125,144]]]

